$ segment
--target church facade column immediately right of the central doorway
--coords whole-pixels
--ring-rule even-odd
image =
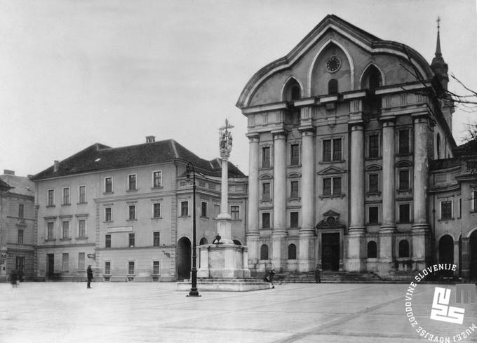
[[[349,179],[351,192],[349,194],[351,218],[348,231],[348,271],[362,271],[364,265],[365,245],[365,215],[364,215],[364,133],[363,124],[351,124],[351,163]]]

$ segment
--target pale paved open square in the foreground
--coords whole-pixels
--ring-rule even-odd
[[[86,283],[1,283],[0,342],[394,343],[444,334],[476,342],[477,330],[461,341],[457,333],[477,324],[477,304],[465,307],[464,325],[432,321],[434,287],[412,293],[413,328],[406,284],[290,283],[189,298],[175,283],[93,283],[91,290]],[[427,339],[417,334],[420,325]]]

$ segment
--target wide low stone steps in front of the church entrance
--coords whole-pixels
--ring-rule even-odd
[[[304,273],[283,272],[275,276],[276,282],[283,283],[314,283],[314,271]],[[381,283],[383,280],[372,272],[354,273],[349,271],[322,271],[322,283]]]

